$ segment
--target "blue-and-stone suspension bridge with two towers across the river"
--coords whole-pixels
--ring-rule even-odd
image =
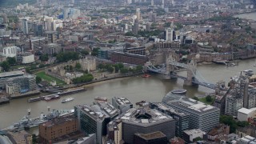
[[[181,78],[184,80],[184,86],[205,86],[207,88],[216,89],[216,84],[207,82],[205,78],[197,70],[197,62],[192,59],[188,64],[177,62],[174,54],[170,54],[169,57],[166,58],[166,64],[162,66],[153,66],[151,62],[146,63],[146,68],[148,71],[162,74],[166,79],[170,78]],[[175,68],[182,67],[186,69],[187,74],[186,77],[177,74]]]

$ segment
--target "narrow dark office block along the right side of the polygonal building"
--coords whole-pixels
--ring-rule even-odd
[[[164,114],[170,115],[175,122],[175,136],[182,138],[183,130],[189,129],[190,114],[185,114],[179,110],[167,106],[162,102],[150,102],[150,108],[159,110]]]

